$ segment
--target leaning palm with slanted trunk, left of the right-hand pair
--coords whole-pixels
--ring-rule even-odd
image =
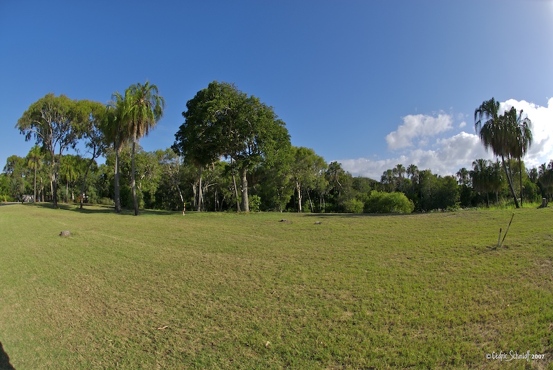
[[[513,142],[516,140],[516,129],[510,120],[505,118],[505,115],[499,116],[499,102],[496,102],[494,98],[482,102],[480,107],[474,111],[474,129],[478,132],[480,140],[486,150],[491,148],[494,155],[501,157],[501,163],[503,163],[503,169],[507,177],[507,183],[509,183],[509,190],[514,199],[515,207],[518,206],[518,200],[513,188],[513,182],[507,165],[505,164],[505,157],[509,158],[513,153]]]

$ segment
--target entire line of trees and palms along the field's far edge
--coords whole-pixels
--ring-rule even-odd
[[[498,115],[492,98],[475,111],[475,129],[501,162],[478,159],[456,176],[397,165],[380,181],[354,177],[337,162],[290,144],[274,109],[234,84],[212,82],[182,112],[171,148],[139,145],[160,120],[156,85],[134,84],[108,104],[47,94],[17,122],[35,140],[25,158],[10,156],[0,174],[4,200],[109,203],[196,211],[426,212],[512,198],[552,196],[553,160],[528,171],[531,122],[515,109]],[[84,142],[86,153],[67,154]],[[96,160],[104,156],[105,163]]]

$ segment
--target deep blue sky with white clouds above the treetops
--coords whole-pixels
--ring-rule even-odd
[[[526,162],[553,159],[553,1],[2,0],[0,50],[2,166],[32,146],[14,127],[46,93],[107,102],[146,80],[167,103],[148,151],[173,144],[187,100],[218,80],[354,175],[492,158],[474,132],[491,97],[534,123]]]

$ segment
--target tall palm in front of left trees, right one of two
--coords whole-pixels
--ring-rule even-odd
[[[135,182],[135,145],[142,136],[147,136],[163,116],[165,99],[159,95],[158,86],[150,84],[134,84],[126,89],[124,96],[123,122],[126,123],[129,138],[133,140],[131,151],[131,189],[133,191],[134,214],[138,216],[138,198]]]

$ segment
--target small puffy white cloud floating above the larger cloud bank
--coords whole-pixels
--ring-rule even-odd
[[[397,131],[392,131],[386,136],[388,149],[396,150],[406,147],[413,147],[413,139],[424,139],[435,136],[440,132],[451,129],[451,115],[440,113],[438,117],[432,115],[406,115],[403,118],[403,124],[397,127]]]

